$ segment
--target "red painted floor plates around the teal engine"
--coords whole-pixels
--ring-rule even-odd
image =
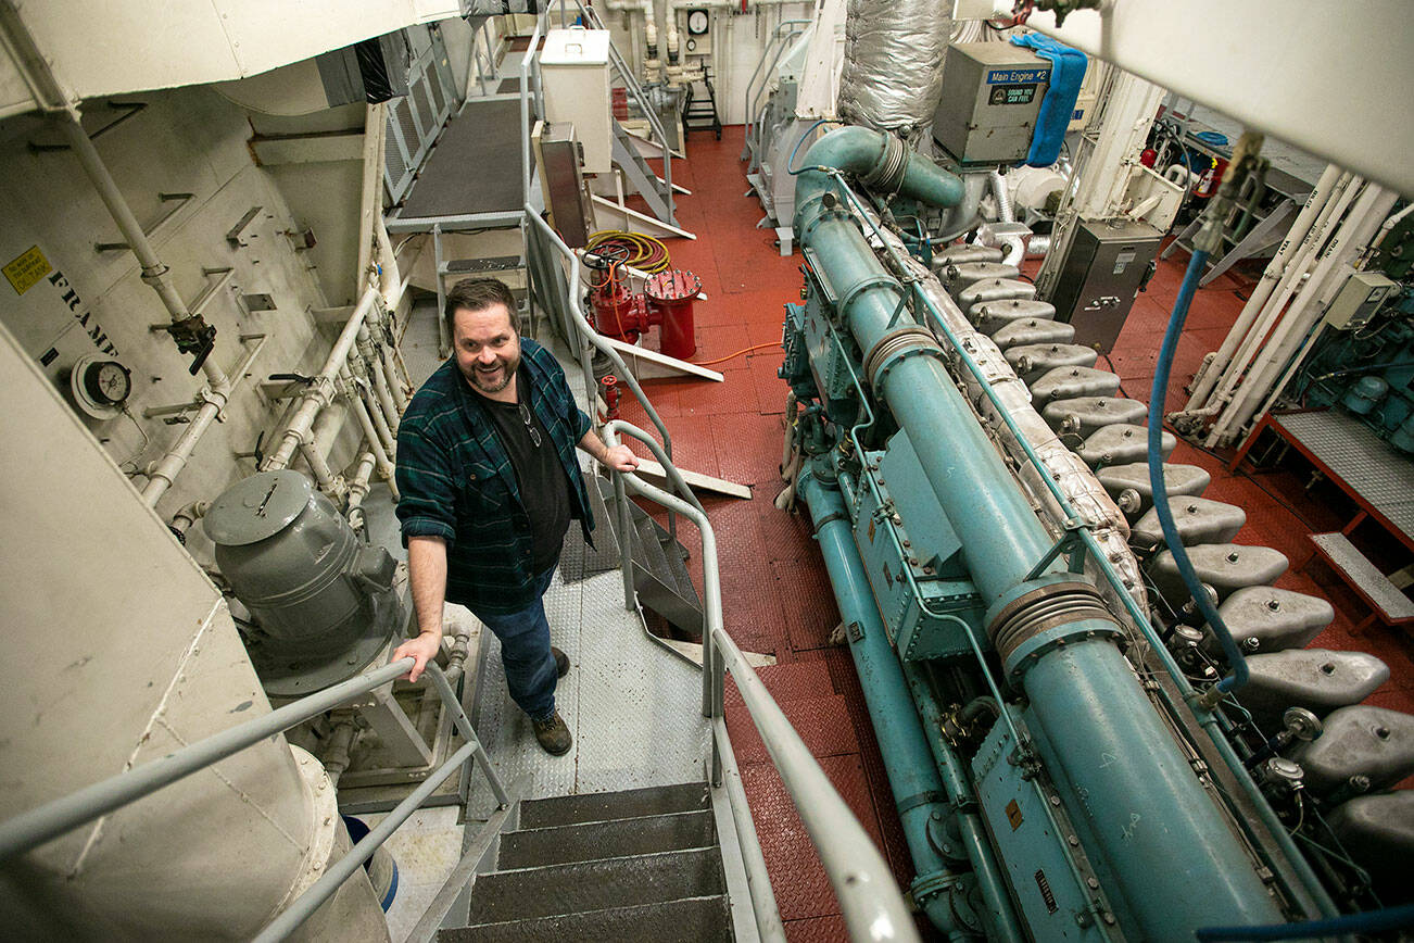
[[[839,611],[819,553],[809,526],[772,505],[782,486],[778,464],[786,396],[775,372],[781,363],[783,305],[800,297],[800,256],[781,257],[773,230],[755,228],[762,211],[754,197],[744,195],[741,141],[740,126],[725,129],[721,141],[710,134],[689,140],[689,160],[673,164],[673,181],[693,191],[677,205],[680,225],[697,239],[673,239],[667,245],[673,264],[696,273],[707,294],[707,301],[696,307],[694,359],[714,361],[754,345],[769,346],[717,363],[714,369],[725,377],[720,385],[660,380],[648,383],[646,390],[669,426],[680,467],[752,486],[751,500],[704,502],[718,540],[727,629],[741,648],[776,656],[775,667],[761,670],[762,680],[906,886],[912,877],[908,850],[854,666],[846,649],[827,640]],[[1185,264],[1181,252],[1159,263],[1120,336],[1113,369],[1128,396],[1148,400],[1154,358]],[[1203,355],[1222,342],[1250,284],[1240,273],[1226,274],[1199,291],[1179,344],[1168,409],[1182,406],[1182,385]],[[648,426],[631,397],[625,397],[622,413]],[[1379,626],[1353,636],[1353,626],[1365,618],[1360,601],[1319,561],[1302,566],[1311,556],[1305,534],[1339,529],[1343,512],[1324,505],[1319,492],[1307,495],[1302,481],[1291,474],[1233,475],[1219,458],[1186,443],[1179,444],[1172,461],[1209,469],[1213,484],[1206,496],[1246,509],[1247,526],[1239,543],[1267,544],[1291,558],[1292,568],[1277,585],[1332,601],[1336,621],[1316,646],[1363,649],[1390,664],[1391,680],[1370,703],[1414,713],[1414,646],[1406,636]],[[683,541],[696,551],[690,527]],[[696,553],[690,566],[700,585]],[[788,937],[844,940],[839,902],[819,858],[745,708],[731,696],[727,720]]]

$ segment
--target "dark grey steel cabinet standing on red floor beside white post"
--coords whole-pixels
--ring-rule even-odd
[[[1075,325],[1075,344],[1114,348],[1162,239],[1143,222],[1080,223],[1051,297],[1056,321]]]

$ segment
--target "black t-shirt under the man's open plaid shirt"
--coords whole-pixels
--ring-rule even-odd
[[[560,558],[564,532],[570,529],[570,479],[550,434],[530,409],[523,366],[516,370],[516,399],[518,403],[499,403],[482,397],[482,403],[516,469],[520,500],[530,516],[532,564],[539,574]]]

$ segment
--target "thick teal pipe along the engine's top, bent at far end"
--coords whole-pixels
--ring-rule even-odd
[[[1109,862],[1147,936],[1168,937],[1184,925],[1280,920],[1244,847],[1116,648],[1121,629],[1094,587],[1056,561],[1036,567],[1053,541],[947,375],[937,342],[909,315],[904,287],[861,235],[864,221],[844,208],[851,194],[836,171],[933,205],[962,198],[962,181],[930,163],[889,160],[882,137],[840,129],[810,148],[796,184],[795,229],[865,352],[874,394],[925,444],[919,462],[962,536],[1004,670],[1029,698],[1041,759],[1070,782],[1072,795],[1089,797],[1072,814],[1093,821],[1089,850]],[[1106,762],[1096,762],[1100,756]],[[1161,879],[1154,861],[1171,864]]]

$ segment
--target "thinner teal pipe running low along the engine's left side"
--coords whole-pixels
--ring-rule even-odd
[[[810,509],[820,556],[824,557],[824,568],[840,604],[840,618],[846,625],[857,626],[857,632],[850,632],[850,656],[864,689],[864,704],[878,738],[894,804],[904,826],[904,838],[918,872],[913,901],[928,913],[933,926],[945,933],[954,932],[959,926],[953,918],[956,908],[952,898],[964,891],[936,847],[936,830],[943,817],[950,814],[940,797],[952,793],[945,792],[923,725],[909,703],[904,669],[874,602],[839,489],[827,488],[807,471],[800,475],[799,493]],[[939,799],[923,800],[925,796]],[[995,892],[998,878],[993,872],[978,884],[984,891]],[[1005,889],[1000,889],[1000,896],[987,896],[987,939],[1021,943],[1025,936],[1011,912]]]

